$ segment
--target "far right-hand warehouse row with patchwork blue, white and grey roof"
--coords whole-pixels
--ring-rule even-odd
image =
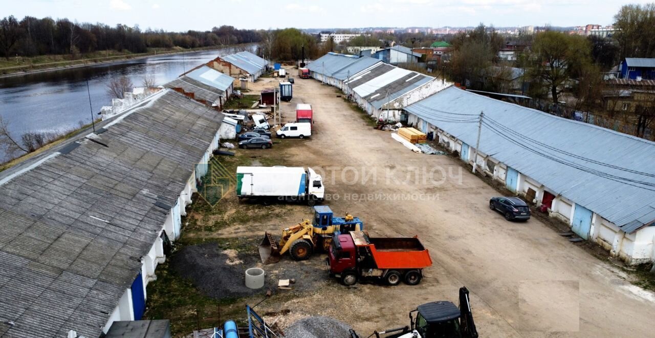
[[[375,119],[388,121],[405,121],[403,107],[452,85],[365,56],[328,53],[308,69],[314,79],[340,88]]]

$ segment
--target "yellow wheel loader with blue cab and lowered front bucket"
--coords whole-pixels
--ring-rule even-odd
[[[289,252],[295,261],[309,259],[314,252],[327,251],[333,236],[362,231],[364,223],[358,217],[346,212],[345,217],[335,217],[329,206],[314,206],[314,220],[305,219],[297,225],[282,229],[279,242],[266,232],[259,249],[261,263],[278,263],[282,255]]]

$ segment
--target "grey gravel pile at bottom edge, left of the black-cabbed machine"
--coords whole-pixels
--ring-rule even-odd
[[[285,331],[286,338],[350,338],[350,326],[339,320],[314,316],[294,322]]]

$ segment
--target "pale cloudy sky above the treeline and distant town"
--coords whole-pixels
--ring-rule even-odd
[[[648,0],[0,0],[0,16],[138,24],[142,29],[582,26]]]

